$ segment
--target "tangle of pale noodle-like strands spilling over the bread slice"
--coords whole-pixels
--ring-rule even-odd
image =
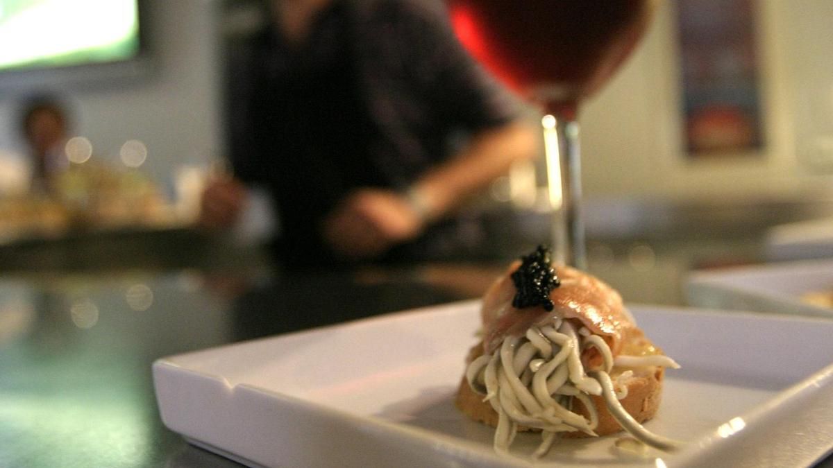
[[[584,327],[582,327],[584,328]],[[595,347],[603,362],[602,371],[587,376],[581,351]],[[627,396],[626,381],[633,371],[622,372],[611,381],[607,371],[613,366],[679,367],[670,357],[616,356],[606,341],[597,335],[585,336],[570,321],[556,318],[549,325],[533,326],[526,336],[508,336],[491,355],[471,361],[466,380],[471,389],[485,394],[497,413],[495,450],[509,451],[518,426],[541,430],[541,446],[533,454],[546,454],[557,433],[583,431],[596,436],[599,415],[590,395],[604,397],[611,416],[626,431],[647,445],[670,450],[680,445],[647,431],[622,408],[619,400]],[[572,401],[585,406],[589,417],[572,411]]]

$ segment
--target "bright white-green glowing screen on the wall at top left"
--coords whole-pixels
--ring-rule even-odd
[[[0,44],[0,70],[131,58],[136,0],[0,0]]]

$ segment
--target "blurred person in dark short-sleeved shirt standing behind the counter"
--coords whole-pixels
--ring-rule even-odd
[[[278,0],[232,67],[234,177],[202,198],[229,227],[267,188],[287,266],[453,255],[461,203],[533,157],[523,107],[457,42],[433,0]]]

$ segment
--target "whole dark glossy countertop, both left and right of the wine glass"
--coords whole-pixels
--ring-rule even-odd
[[[257,252],[226,251],[237,260],[222,261],[222,248],[192,234],[150,240],[170,250],[147,263],[0,271],[0,466],[237,466],[162,425],[153,361],[477,297],[506,267],[491,259],[288,275],[251,261]],[[118,255],[108,242],[107,255]],[[631,302],[681,305],[691,268],[761,260],[757,232],[596,236],[588,246],[591,272]]]

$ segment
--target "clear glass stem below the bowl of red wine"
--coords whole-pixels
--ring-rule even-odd
[[[547,116],[551,117],[551,116]],[[541,121],[552,207],[554,260],[586,270],[586,245],[581,216],[581,151],[575,118]]]

